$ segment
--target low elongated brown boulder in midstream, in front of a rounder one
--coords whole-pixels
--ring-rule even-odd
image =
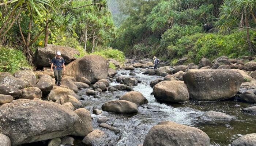
[[[126,100],[113,100],[104,103],[102,106],[103,111],[117,112],[123,114],[130,114],[138,112],[138,105]]]

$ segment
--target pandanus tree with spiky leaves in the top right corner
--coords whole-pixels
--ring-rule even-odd
[[[256,0],[225,0],[221,7],[220,17],[217,26],[222,32],[230,32],[234,28],[246,30],[248,49],[255,54],[256,49],[253,46],[249,30],[256,31]]]

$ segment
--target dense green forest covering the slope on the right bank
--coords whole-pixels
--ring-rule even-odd
[[[129,17],[117,30],[114,48],[128,56],[154,55],[173,64],[221,55],[255,54],[255,0],[124,0]]]

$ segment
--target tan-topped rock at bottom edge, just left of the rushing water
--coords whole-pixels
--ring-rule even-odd
[[[93,130],[93,132],[90,132],[86,137],[83,139],[83,143],[86,146],[103,146],[106,143],[106,138],[108,138],[108,134],[101,130]]]

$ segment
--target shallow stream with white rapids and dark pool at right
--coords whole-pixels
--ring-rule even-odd
[[[138,86],[134,86],[135,91],[141,92],[148,100],[147,104],[138,107],[137,114],[116,114],[113,112],[102,111],[102,114],[92,114],[93,128],[106,132],[110,137],[106,139],[108,146],[137,146],[143,144],[146,134],[150,128],[163,120],[170,120],[180,124],[186,124],[199,128],[206,132],[210,137],[211,146],[229,146],[231,142],[241,135],[256,133],[256,115],[248,114],[242,111],[242,108],[254,106],[256,104],[241,103],[236,101],[188,101],[180,104],[165,104],[155,100],[154,95],[150,93],[153,88],[150,82],[159,78],[159,76],[147,76],[135,70],[137,78],[142,81]],[[119,70],[118,74],[129,74],[127,70]],[[162,78],[162,77],[160,77]],[[111,85],[119,83],[113,82]],[[87,96],[86,89],[80,90],[78,95],[81,96],[84,108],[91,113],[93,109],[101,109],[101,105],[106,101],[118,100],[117,95],[124,95],[127,91],[103,92],[100,94],[101,99],[95,99],[93,96]],[[200,116],[206,111],[214,110],[234,116],[236,119],[230,122],[212,121],[211,119],[202,119]],[[109,120],[106,122],[110,126],[120,129],[115,134],[106,128],[99,127],[98,118],[105,117]],[[75,138],[75,146],[84,146],[82,138]]]

